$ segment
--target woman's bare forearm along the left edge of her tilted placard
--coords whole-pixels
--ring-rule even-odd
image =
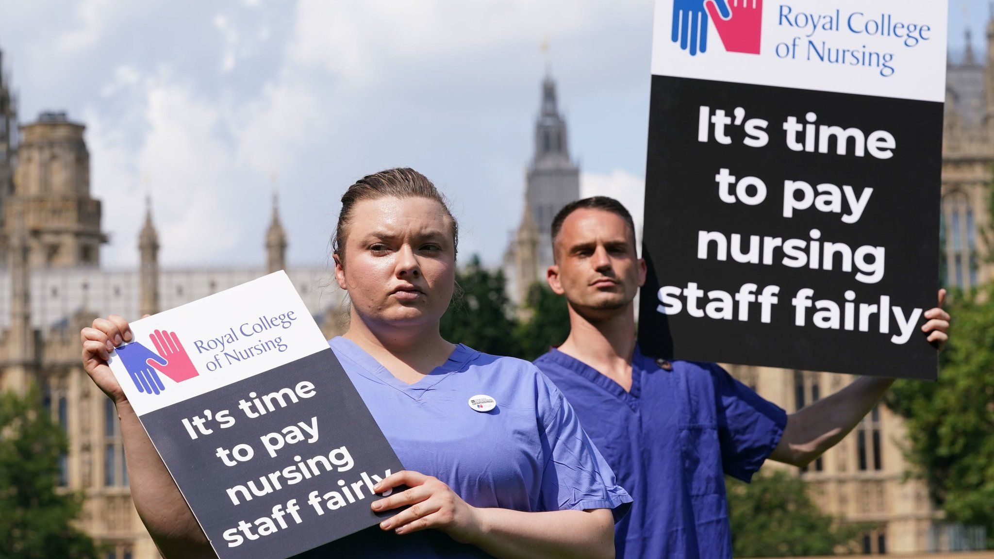
[[[128,402],[117,404],[131,499],[167,559],[216,557],[200,524]]]

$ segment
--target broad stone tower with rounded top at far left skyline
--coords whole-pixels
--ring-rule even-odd
[[[85,126],[65,112],[43,112],[21,127],[14,193],[5,204],[8,237],[13,216],[23,217],[32,268],[96,267],[100,202],[89,195]]]

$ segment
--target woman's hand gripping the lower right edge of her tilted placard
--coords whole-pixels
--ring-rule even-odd
[[[481,532],[477,509],[462,500],[448,485],[430,475],[417,471],[398,471],[374,485],[382,493],[398,485],[410,489],[374,501],[373,510],[383,512],[405,505],[410,508],[380,523],[384,530],[410,534],[425,528],[435,528],[459,543],[472,543]]]

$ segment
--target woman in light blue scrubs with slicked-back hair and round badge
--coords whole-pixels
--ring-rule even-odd
[[[531,363],[438,333],[457,239],[441,195],[412,169],[368,175],[342,196],[333,254],[352,320],[329,344],[409,468],[375,489],[410,488],[371,506],[411,506],[305,555],[613,557],[613,521],[631,498],[562,394]],[[81,337],[86,372],[117,406],[131,495],[149,533],[165,557],[212,556],[106,365],[131,340],[127,322],[97,318]],[[478,394],[496,400],[496,413],[469,408]]]

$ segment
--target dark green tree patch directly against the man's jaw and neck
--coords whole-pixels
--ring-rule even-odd
[[[566,297],[538,281],[528,289],[525,308],[528,320],[521,322],[515,332],[521,348],[518,357],[532,361],[551,346],[566,341],[570,335],[570,311]]]

